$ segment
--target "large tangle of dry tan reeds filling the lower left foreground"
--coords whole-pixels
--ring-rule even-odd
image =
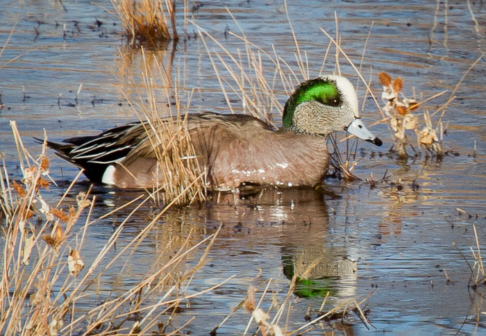
[[[148,200],[144,199],[101,246],[94,260],[85,265],[87,232],[99,221],[91,219],[94,196],[89,192],[80,193],[76,204],[67,207],[62,202],[71,185],[56,205],[50,205],[42,196],[44,188],[49,186],[49,160],[44,156],[46,144],[40,156],[33,158],[23,145],[14,121],[11,126],[23,177],[10,180],[3,162],[0,203],[5,239],[0,283],[1,335],[147,335],[160,321],[170,321],[182,301],[219,286],[190,295],[183,292],[194,273],[206,263],[208,249],[219,231],[197,244],[188,244],[189,235],[180,249],[171,253],[166,263],[153,269],[152,274],[128,289],[116,292],[114,289],[103,303],[93,306],[90,288],[96,287],[104,274],[113,274],[117,269],[115,262],[129,262],[127,253],[129,256],[135,251],[175,199],[130,242],[118,246],[119,252],[114,257],[108,257],[131,215]],[[77,177],[80,175],[81,172]],[[135,201],[140,201],[140,197]],[[81,217],[85,217],[84,224],[78,223]],[[187,259],[203,247],[206,251],[199,261],[187,269]],[[181,267],[186,270],[181,272]],[[167,329],[170,324],[162,325],[161,333],[171,332]]]

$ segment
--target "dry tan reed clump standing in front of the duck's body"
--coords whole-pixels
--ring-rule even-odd
[[[146,62],[142,48],[144,72],[143,92],[137,98],[131,98],[121,92],[134,108],[140,120],[146,120],[146,134],[150,147],[158,159],[156,176],[157,192],[153,200],[158,204],[167,204],[176,200],[176,204],[188,204],[206,199],[206,171],[199,166],[190,133],[187,128],[187,117],[192,92],[183,102],[180,83],[171,84],[170,74],[165,72],[156,58],[151,66]],[[162,85],[156,83],[162,81]],[[131,78],[135,85],[135,79]],[[165,97],[165,102],[158,99]],[[167,106],[167,108],[165,108]],[[152,194],[152,193],[151,193]]]

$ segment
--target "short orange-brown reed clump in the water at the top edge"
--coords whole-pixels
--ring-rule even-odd
[[[111,0],[111,3],[131,44],[148,41],[156,45],[178,40],[175,0]]]

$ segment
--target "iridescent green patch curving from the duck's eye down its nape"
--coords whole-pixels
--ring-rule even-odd
[[[318,101],[328,106],[340,106],[341,96],[336,82],[324,78],[315,78],[299,85],[283,108],[283,126],[290,127],[297,106],[304,101]]]

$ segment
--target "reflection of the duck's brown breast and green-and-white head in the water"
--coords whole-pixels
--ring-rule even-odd
[[[327,242],[328,208],[323,194],[312,188],[269,188],[245,196],[218,196],[219,204],[206,212],[210,221],[280,224],[271,229],[278,230],[283,274],[289,280],[296,276],[294,294],[355,294],[358,263],[347,258],[346,246]]]

